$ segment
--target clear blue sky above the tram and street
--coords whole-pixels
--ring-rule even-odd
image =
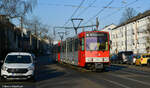
[[[35,7],[32,15],[38,16],[44,24],[48,24],[52,27],[54,26],[63,26],[65,22],[70,18],[73,12],[78,8],[79,4],[83,0],[38,0],[38,4]],[[93,3],[95,1],[95,3]],[[89,18],[93,17],[96,13],[98,13],[103,7],[105,7],[111,0],[85,0],[82,4],[81,8],[74,14],[73,17],[83,18],[83,22],[81,25],[88,25],[96,23],[96,17],[90,20],[87,24],[84,24],[89,20]],[[136,12],[144,12],[150,9],[150,0],[114,0],[109,7],[103,10],[97,17],[99,17],[100,28],[103,28],[109,24],[118,24],[120,18],[122,16],[123,11],[125,10],[122,7],[132,7],[136,10]],[[134,2],[130,4],[131,2]],[[93,5],[89,7],[86,11],[86,7],[88,7],[91,3]],[[130,5],[128,5],[130,4]],[[120,9],[120,10],[119,10]],[[84,12],[84,13],[82,13]],[[31,14],[29,14],[31,15]],[[72,26],[71,21],[66,26]],[[85,28],[86,30],[90,30],[90,28]],[[57,31],[63,31],[62,29],[58,29]],[[73,30],[69,30],[70,32],[74,32]],[[79,29],[79,32],[81,29]],[[70,33],[72,35],[72,33]]]

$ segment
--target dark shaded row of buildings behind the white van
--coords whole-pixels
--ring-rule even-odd
[[[0,60],[9,52],[32,52],[39,55],[49,50],[48,41],[33,34],[31,30],[16,27],[7,16],[0,15]]]

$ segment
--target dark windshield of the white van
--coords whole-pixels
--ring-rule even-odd
[[[23,55],[9,55],[7,56],[5,63],[31,63],[31,57],[30,56],[23,56]]]

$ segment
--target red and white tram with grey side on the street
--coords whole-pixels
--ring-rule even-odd
[[[110,64],[109,33],[104,31],[81,32],[55,45],[56,61],[103,70]]]

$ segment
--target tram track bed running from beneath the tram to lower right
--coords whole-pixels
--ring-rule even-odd
[[[92,72],[84,68],[79,68],[73,65],[63,65],[65,67],[70,67],[73,70],[79,72],[82,77],[87,80],[94,82],[95,84],[101,84],[105,88],[149,88],[149,77],[150,73],[136,70],[133,68],[122,67],[117,65],[111,65],[106,67],[104,72]],[[142,78],[147,78],[146,80],[141,80]]]

